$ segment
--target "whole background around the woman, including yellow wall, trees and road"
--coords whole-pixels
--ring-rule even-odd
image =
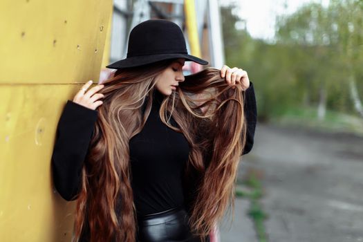
[[[363,241],[362,0],[0,1],[0,241],[70,241],[75,203],[50,174],[57,121],[147,19],[254,84],[254,147],[212,242]]]

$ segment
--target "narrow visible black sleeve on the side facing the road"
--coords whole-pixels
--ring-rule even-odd
[[[250,82],[248,89],[245,90],[244,101],[243,109],[245,112],[245,121],[247,122],[247,133],[245,149],[243,149],[241,156],[251,151],[254,143],[254,131],[257,124],[256,96],[254,95],[254,86],[252,82]]]

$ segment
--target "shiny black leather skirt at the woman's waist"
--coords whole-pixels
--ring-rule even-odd
[[[175,207],[170,210],[138,216],[138,242],[201,242],[198,236],[193,236],[188,224],[188,214],[185,207]],[[206,242],[210,237],[205,238]]]

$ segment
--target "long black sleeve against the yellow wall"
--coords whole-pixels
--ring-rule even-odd
[[[82,166],[97,113],[68,100],[59,118],[52,155],[53,183],[66,201],[75,200],[80,192]]]

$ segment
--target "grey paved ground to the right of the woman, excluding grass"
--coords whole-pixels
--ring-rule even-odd
[[[363,138],[259,124],[239,168],[262,174],[269,242],[363,241]],[[237,199],[221,242],[257,241],[248,206]]]

